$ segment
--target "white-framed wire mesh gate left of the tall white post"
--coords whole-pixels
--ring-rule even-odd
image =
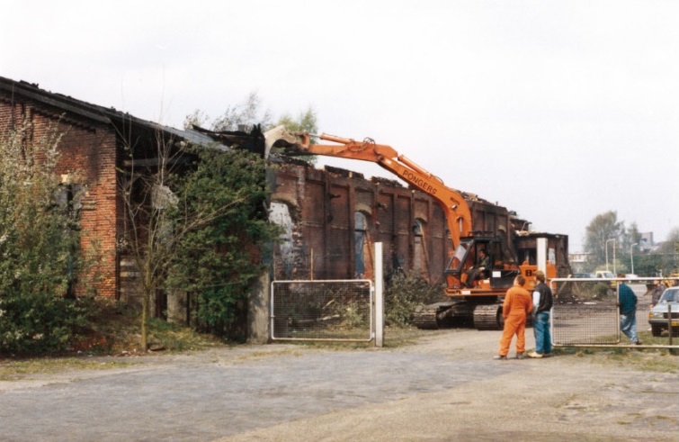
[[[272,339],[371,341],[372,281],[273,281]]]

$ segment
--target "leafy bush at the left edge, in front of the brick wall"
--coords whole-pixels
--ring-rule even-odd
[[[77,213],[55,172],[60,136],[31,124],[0,139],[0,353],[67,347],[87,310],[73,296],[85,266]]]

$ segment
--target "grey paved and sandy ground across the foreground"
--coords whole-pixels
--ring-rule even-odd
[[[493,361],[499,333],[244,346],[0,383],[0,440],[679,440],[679,357],[648,356],[674,373],[624,355]]]

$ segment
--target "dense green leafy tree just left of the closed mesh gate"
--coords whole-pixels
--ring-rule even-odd
[[[194,317],[202,330],[224,335],[238,303],[263,271],[265,245],[280,231],[266,221],[264,159],[245,150],[195,153],[195,171],[178,183],[174,230],[182,230],[197,213],[209,212],[206,207],[223,210],[177,242],[167,286],[192,294]]]

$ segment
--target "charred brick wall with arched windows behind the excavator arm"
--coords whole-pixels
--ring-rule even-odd
[[[274,246],[273,277],[371,278],[372,245],[383,243],[385,275],[403,271],[432,284],[444,282],[451,255],[447,223],[438,203],[397,181],[370,181],[344,169],[283,164],[270,172],[270,219],[284,227]],[[505,234],[505,207],[470,201],[474,230]]]

